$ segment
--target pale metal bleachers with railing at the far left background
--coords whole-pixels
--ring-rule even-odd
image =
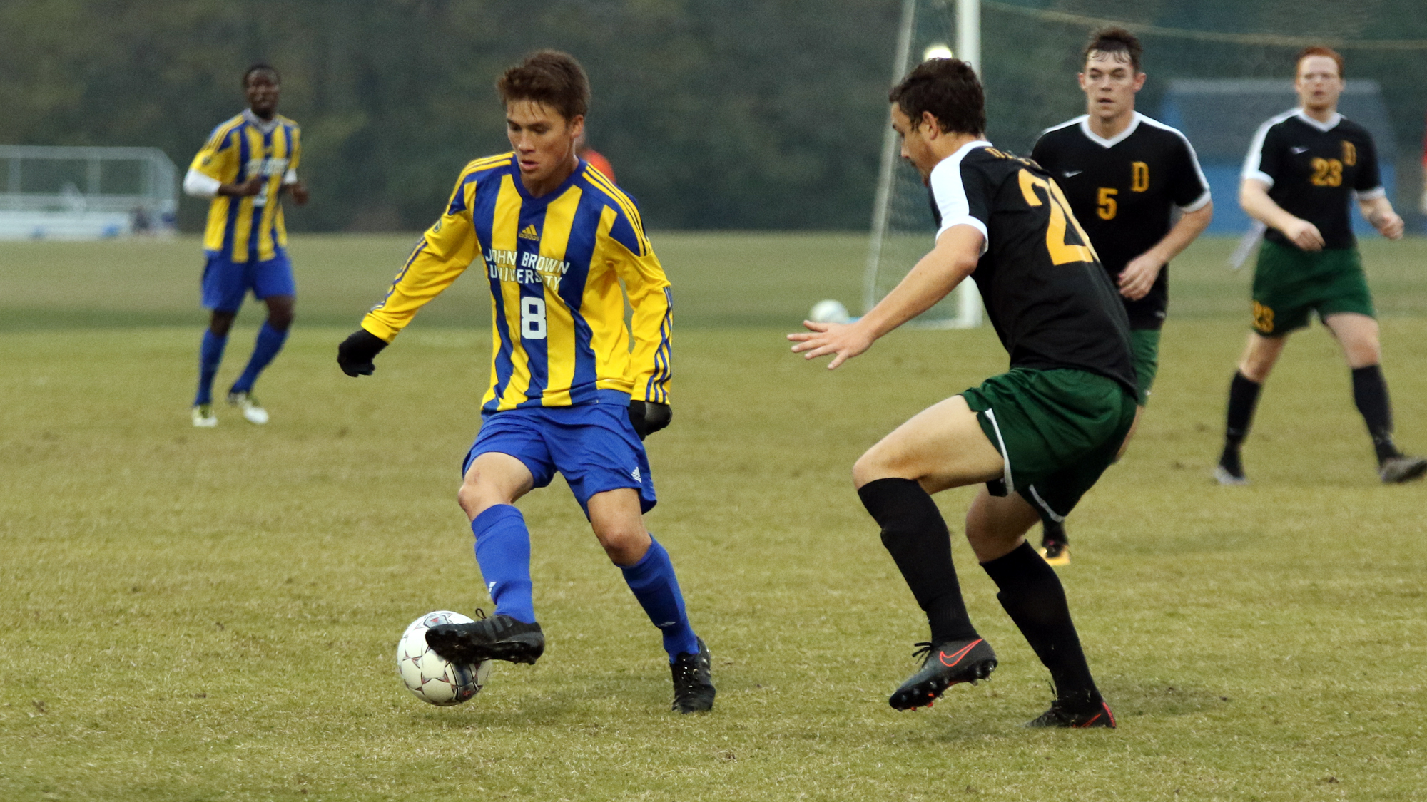
[[[0,240],[173,235],[177,211],[157,147],[0,146]]]

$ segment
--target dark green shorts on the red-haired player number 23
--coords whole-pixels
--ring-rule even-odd
[[[1253,273],[1253,328],[1283,337],[1337,313],[1377,317],[1357,248],[1300,251],[1264,240]]]

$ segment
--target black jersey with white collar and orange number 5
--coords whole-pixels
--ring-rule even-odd
[[[1209,181],[1184,134],[1140,113],[1112,138],[1096,136],[1089,116],[1046,128],[1030,157],[1065,190],[1112,277],[1169,234],[1174,207],[1194,211],[1209,203]],[[1160,328],[1169,265],[1143,298],[1122,301],[1130,328]]]

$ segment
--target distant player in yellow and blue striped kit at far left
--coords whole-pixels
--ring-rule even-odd
[[[213,380],[228,344],[233,318],[247,293],[251,290],[267,304],[268,315],[258,330],[247,368],[228,390],[228,404],[243,410],[243,417],[254,424],[265,424],[268,414],[253,398],[253,384],[283,350],[293,325],[297,288],[287,258],[280,200],[284,191],[291,191],[293,200],[303,205],[307,187],[297,178],[301,131],[297,123],[277,114],[280,88],[277,70],[267,64],[248,67],[243,74],[248,108],[213,130],[183,181],[190,196],[213,198],[203,237],[207,255],[203,305],[211,315],[198,357],[198,395],[193,401],[195,427],[218,424],[213,414]]]

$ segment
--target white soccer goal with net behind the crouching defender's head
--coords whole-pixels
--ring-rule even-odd
[[[949,44],[953,39],[955,50]],[[948,53],[969,63],[980,74],[980,0],[903,0],[892,81],[902,80],[912,68],[913,59],[920,61]],[[888,126],[872,207],[863,313],[892,291],[916,260],[932,248],[935,234],[926,187],[916,170],[898,157],[898,137]],[[980,324],[980,293],[970,280],[962,281],[950,297],[915,321],[915,325],[925,328],[975,328]]]

